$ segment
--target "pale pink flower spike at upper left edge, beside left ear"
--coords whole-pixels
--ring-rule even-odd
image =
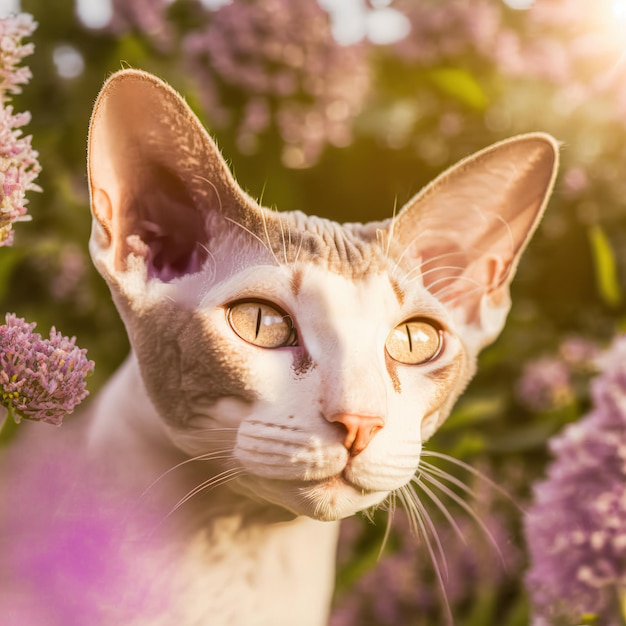
[[[38,154],[21,130],[30,113],[14,113],[8,104],[31,78],[30,70],[18,64],[33,52],[22,39],[35,27],[28,14],[0,19],[0,246],[13,243],[13,223],[26,218],[26,192],[39,190],[34,184],[41,170]]]

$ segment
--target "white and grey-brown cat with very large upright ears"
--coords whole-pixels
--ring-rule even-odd
[[[557,143],[503,141],[340,225],[259,206],[142,71],[105,83],[88,141],[132,352],[4,454],[2,624],[321,626],[339,520],[407,485],[502,330]]]

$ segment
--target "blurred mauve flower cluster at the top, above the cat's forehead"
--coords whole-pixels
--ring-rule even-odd
[[[311,165],[326,144],[351,142],[352,120],[369,89],[365,48],[340,46],[316,0],[233,0],[206,29],[187,36],[185,50],[200,84],[218,78],[247,99],[242,151],[256,149],[272,119],[290,167]]]

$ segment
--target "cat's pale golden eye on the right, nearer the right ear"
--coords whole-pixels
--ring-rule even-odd
[[[443,346],[441,329],[428,320],[398,324],[387,337],[387,354],[400,363],[419,365],[434,359]]]

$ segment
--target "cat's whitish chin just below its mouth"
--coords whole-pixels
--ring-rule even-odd
[[[388,491],[367,491],[341,475],[322,480],[275,480],[247,476],[238,481],[248,497],[281,506],[295,515],[332,522],[379,505]]]

